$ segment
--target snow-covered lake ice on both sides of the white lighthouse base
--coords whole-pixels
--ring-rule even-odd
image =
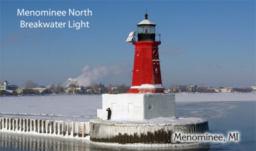
[[[176,102],[256,101],[256,93],[180,93]],[[96,119],[101,95],[1,96],[0,117],[36,119]]]

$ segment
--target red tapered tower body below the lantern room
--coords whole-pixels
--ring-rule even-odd
[[[161,87],[161,70],[158,55],[158,45],[160,41],[136,41],[134,68],[132,71],[132,87],[127,93],[163,93]],[[141,85],[146,87],[140,87]]]

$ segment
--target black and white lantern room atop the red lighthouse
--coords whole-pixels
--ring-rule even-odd
[[[155,41],[156,40],[156,24],[148,20],[147,13],[145,19],[138,26],[138,41]]]

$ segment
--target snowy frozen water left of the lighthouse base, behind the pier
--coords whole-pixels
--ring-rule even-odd
[[[101,95],[45,95],[0,97],[0,116],[31,119],[83,119],[96,118],[102,106]]]

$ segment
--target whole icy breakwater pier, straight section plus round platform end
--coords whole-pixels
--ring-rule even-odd
[[[156,124],[157,122],[157,124]],[[90,120],[72,122],[40,119],[0,118],[0,132],[81,138],[102,143],[178,143],[175,133],[202,134],[209,131],[208,121],[200,118],[157,118],[141,122]]]

